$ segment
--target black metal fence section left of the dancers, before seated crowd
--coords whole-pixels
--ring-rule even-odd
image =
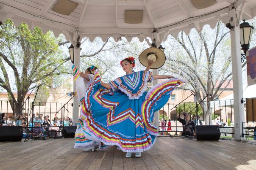
[[[24,138],[58,137],[64,126],[73,124],[72,103],[25,102],[17,105],[20,108],[15,108],[13,102],[0,101],[0,126],[22,126]]]

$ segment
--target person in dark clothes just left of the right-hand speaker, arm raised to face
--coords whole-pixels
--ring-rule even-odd
[[[180,117],[184,116],[184,119]],[[179,116],[177,116],[177,120],[181,122],[183,126],[182,135],[183,136],[192,136],[195,135],[195,122],[190,120],[189,113],[181,112]]]

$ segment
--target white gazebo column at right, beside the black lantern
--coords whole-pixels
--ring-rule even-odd
[[[229,11],[231,25],[234,31],[230,30],[231,37],[231,55],[232,55],[232,75],[233,75],[233,91],[234,91],[234,119],[235,119],[235,140],[242,140],[242,122],[245,121],[244,103],[241,103],[243,98],[242,89],[242,63],[241,63],[241,45],[240,45],[240,28],[237,23],[235,9]]]

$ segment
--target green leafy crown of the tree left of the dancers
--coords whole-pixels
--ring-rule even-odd
[[[64,57],[58,48],[58,40],[50,31],[43,34],[39,27],[29,30],[25,23],[14,27],[13,22],[8,19],[0,27],[0,43],[0,53],[11,63],[4,59],[4,66],[6,69],[8,67],[17,69],[18,76],[14,75],[16,87],[13,89],[17,89],[18,92],[28,90],[27,88],[33,83],[51,86],[53,77],[68,72],[67,67],[62,67]],[[20,84],[17,82],[18,79],[22,79]],[[24,89],[20,89],[22,86]]]

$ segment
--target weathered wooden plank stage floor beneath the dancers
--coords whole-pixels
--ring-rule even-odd
[[[114,146],[94,152],[73,147],[72,138],[0,143],[0,169],[256,169],[256,145],[230,140],[157,138],[141,158],[125,158]]]

